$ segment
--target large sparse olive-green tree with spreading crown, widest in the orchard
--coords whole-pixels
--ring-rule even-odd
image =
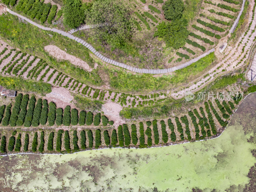
[[[131,38],[133,22],[131,13],[122,2],[111,0],[95,1],[91,10],[85,11],[86,24],[92,36],[108,43],[111,49],[120,48]]]

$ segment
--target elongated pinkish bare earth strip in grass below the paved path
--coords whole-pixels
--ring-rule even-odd
[[[66,53],[65,51],[61,50],[59,47],[55,45],[47,45],[44,47],[44,50],[58,60],[68,60],[75,66],[79,66],[85,69],[86,71],[92,71],[92,68],[85,61]]]

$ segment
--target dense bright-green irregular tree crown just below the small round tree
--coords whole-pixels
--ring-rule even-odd
[[[154,36],[163,38],[167,47],[179,49],[186,43],[189,31],[186,26],[188,22],[186,19],[173,20],[171,22],[161,22],[156,26],[157,31]]]

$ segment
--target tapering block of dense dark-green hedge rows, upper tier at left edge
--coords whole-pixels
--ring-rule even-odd
[[[64,111],[62,108],[56,109],[56,104],[47,100],[38,99],[35,96],[29,98],[28,94],[22,95],[21,93],[15,98],[15,103],[7,106],[0,107],[0,122],[3,126],[24,126],[24,127],[37,127],[40,124],[45,125],[48,121],[48,126],[56,125],[93,125],[94,126],[107,126],[113,125],[113,121],[109,121],[108,117],[101,116],[100,113],[93,115],[91,111],[80,111],[70,106],[67,106]],[[4,113],[5,111],[5,113]]]

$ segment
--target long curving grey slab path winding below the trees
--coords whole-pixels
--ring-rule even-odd
[[[245,1],[245,0],[244,0]],[[11,13],[12,15],[15,15],[23,20],[26,20],[28,23],[40,28],[40,29],[43,29],[43,30],[46,30],[46,31],[53,31],[53,32],[56,32],[56,33],[59,33],[63,36],[66,36],[70,39],[73,39],[75,41],[77,41],[78,43],[84,45],[86,48],[88,48],[96,57],[98,57],[99,59],[103,60],[104,62],[107,62],[109,64],[112,64],[112,65],[116,65],[118,67],[121,67],[121,68],[125,68],[125,69],[128,69],[130,71],[133,71],[133,72],[136,72],[136,73],[148,73],[148,74],[163,74],[163,73],[169,73],[169,72],[173,72],[175,70],[178,70],[178,69],[181,69],[181,68],[185,68],[189,65],[191,65],[192,63],[198,61],[199,59],[205,57],[206,55],[210,54],[211,52],[214,52],[215,49],[211,49],[209,50],[208,52],[205,52],[204,54],[196,57],[195,59],[192,59],[192,60],[189,60],[188,62],[186,63],[183,63],[183,64],[180,64],[176,67],[172,67],[172,68],[167,68],[167,69],[141,69],[141,68],[135,68],[135,67],[132,67],[132,66],[129,66],[129,65],[126,65],[124,63],[119,63],[115,60],[112,60],[112,59],[109,59],[107,57],[105,57],[104,55],[100,54],[99,52],[97,52],[93,47],[92,45],[88,44],[87,42],[85,42],[84,40],[78,38],[78,37],[75,37],[73,35],[71,35],[71,33],[74,33],[75,30],[73,29],[73,31],[70,31],[70,33],[67,33],[65,31],[61,31],[59,29],[56,29],[56,28],[49,28],[49,27],[44,27],[42,25],[39,25],[38,23],[16,13],[16,12],[13,12],[11,11],[10,9],[6,9],[9,13]],[[86,27],[86,26],[85,26]],[[87,26],[89,27],[89,26]]]

